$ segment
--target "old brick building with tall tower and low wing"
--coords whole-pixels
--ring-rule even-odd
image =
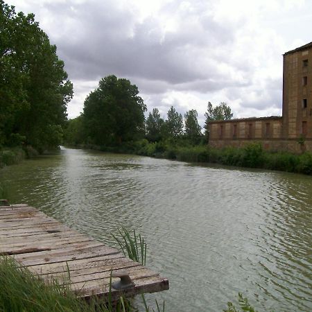
[[[211,146],[250,141],[270,150],[312,151],[312,42],[284,54],[283,116],[209,123]]]

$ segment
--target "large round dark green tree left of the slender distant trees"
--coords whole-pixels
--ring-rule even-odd
[[[146,105],[136,85],[116,76],[107,76],[87,96],[83,123],[89,142],[114,146],[144,135]]]

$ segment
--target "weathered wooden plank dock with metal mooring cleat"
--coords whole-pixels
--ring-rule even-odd
[[[78,297],[107,295],[111,272],[126,272],[134,286],[112,288],[112,298],[169,288],[168,279],[28,205],[0,206],[0,254],[49,282],[69,284]],[[69,270],[69,272],[68,272]],[[112,282],[119,281],[112,277]]]

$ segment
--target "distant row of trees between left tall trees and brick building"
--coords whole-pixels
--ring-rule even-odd
[[[171,106],[163,119],[157,108],[145,118],[146,105],[136,85],[116,76],[107,76],[87,96],[83,114],[68,121],[64,141],[70,146],[89,146],[103,150],[135,148],[146,139],[159,145],[207,144],[208,123],[212,119],[230,119],[233,114],[226,103],[213,107],[208,103],[204,129],[198,123],[198,112],[184,116]],[[203,133],[203,132],[204,133]]]

